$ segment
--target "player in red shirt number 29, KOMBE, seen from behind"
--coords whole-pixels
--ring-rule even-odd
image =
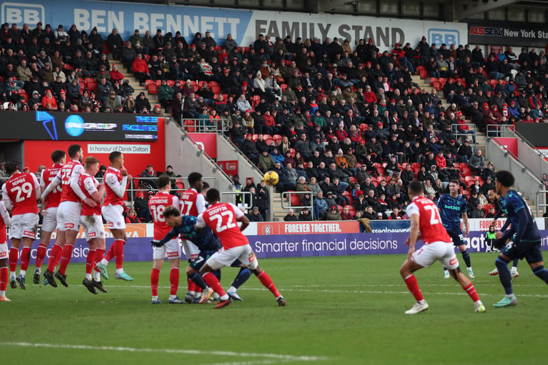
[[[15,162],[5,163],[5,172],[10,179],[2,186],[2,199],[7,210],[12,212],[10,238],[10,286],[25,289],[25,277],[30,260],[30,247],[36,239],[38,230],[38,201],[40,201],[40,184],[33,173],[21,173]],[[21,270],[15,277],[19,246],[21,249]],[[17,282],[16,282],[17,281]]]

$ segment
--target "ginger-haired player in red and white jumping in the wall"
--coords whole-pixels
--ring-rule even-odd
[[[80,174],[78,184],[86,197],[93,199],[97,205],[90,207],[82,205],[82,217],[80,223],[84,227],[86,241],[90,246],[88,256],[86,257],[86,277],[82,284],[92,294],[97,294],[95,288],[101,292],[107,292],[101,283],[101,274],[95,269],[95,264],[103,258],[105,254],[105,226],[103,225],[103,217],[101,216],[101,200],[105,193],[105,186],[99,184],[95,179],[95,174],[99,171],[99,160],[93,156],[86,157],[84,161],[84,172]],[[93,277],[92,277],[93,275]]]

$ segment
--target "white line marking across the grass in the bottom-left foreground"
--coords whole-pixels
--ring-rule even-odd
[[[234,357],[266,357],[274,360],[256,360],[251,362],[232,362],[223,363],[223,365],[247,365],[247,364],[275,364],[279,362],[308,362],[327,360],[327,357],[321,356],[296,356],[296,355],[282,355],[278,353],[238,353],[233,351],[202,351],[202,350],[185,350],[185,349],[137,349],[134,347],[111,347],[111,346],[90,346],[87,344],[41,344],[32,342],[0,342],[6,346],[18,346],[18,347],[44,347],[47,349],[75,349],[75,350],[99,350],[99,351],[123,351],[134,353],[176,353],[183,355],[216,355],[216,356],[234,356]],[[221,364],[217,364],[221,365]]]

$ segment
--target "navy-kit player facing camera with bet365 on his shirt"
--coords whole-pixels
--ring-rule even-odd
[[[440,208],[441,221],[451,240],[453,245],[458,247],[460,253],[462,253],[462,260],[466,264],[468,270],[468,276],[473,278],[474,272],[472,270],[472,264],[470,262],[470,254],[466,249],[464,238],[462,236],[462,229],[460,229],[460,217],[464,221],[464,227],[466,231],[464,234],[468,237],[470,233],[470,226],[468,224],[468,214],[466,214],[466,201],[458,193],[459,182],[457,180],[449,181],[449,194],[443,194],[438,199],[438,208]],[[447,268],[443,268],[445,271],[445,279],[449,279],[449,271]]]

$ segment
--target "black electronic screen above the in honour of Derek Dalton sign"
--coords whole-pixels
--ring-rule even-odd
[[[158,140],[164,118],[136,114],[3,112],[2,139]]]

